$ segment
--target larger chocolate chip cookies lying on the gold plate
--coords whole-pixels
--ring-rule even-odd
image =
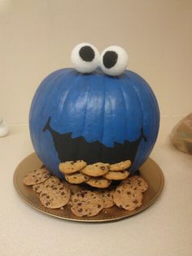
[[[76,162],[73,168],[75,168],[75,164]],[[81,162],[81,166],[83,165],[85,168],[85,162]],[[113,165],[111,166],[111,168],[115,168]],[[98,171],[98,169],[96,170]],[[113,170],[108,170],[107,174],[110,172]],[[88,174],[84,174],[80,170],[77,170],[75,174],[89,177]],[[85,182],[87,181],[88,179],[85,180]],[[142,193],[148,188],[146,181],[141,176],[134,175],[123,179],[116,188],[95,188],[93,191],[93,188],[89,190],[83,186],[62,182],[57,177],[51,176],[50,171],[46,168],[33,170],[27,174],[24,177],[24,184],[33,187],[33,191],[39,194],[41,204],[46,208],[65,210],[65,206],[70,207],[72,213],[78,217],[94,216],[113,205],[124,210],[135,210],[142,205]]]

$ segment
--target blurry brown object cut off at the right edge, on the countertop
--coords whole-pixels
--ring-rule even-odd
[[[192,155],[192,113],[173,128],[171,140],[176,148]]]

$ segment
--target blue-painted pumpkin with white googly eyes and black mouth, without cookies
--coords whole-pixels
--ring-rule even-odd
[[[159,130],[159,108],[151,87],[129,70],[119,46],[103,51],[80,44],[72,51],[75,68],[63,68],[41,82],[29,115],[37,156],[52,171],[60,161],[142,165]],[[98,64],[101,68],[98,68]]]

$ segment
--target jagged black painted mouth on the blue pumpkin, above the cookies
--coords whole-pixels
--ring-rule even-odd
[[[50,131],[55,144],[55,150],[58,152],[59,161],[61,162],[84,160],[88,164],[98,161],[113,164],[130,160],[133,163],[139,143],[142,139],[146,141],[146,136],[141,129],[141,135],[137,140],[133,142],[125,140],[124,143],[114,143],[113,148],[109,148],[99,141],[88,143],[82,136],[72,138],[71,132],[61,135],[53,130],[50,126],[50,117],[43,131],[46,130]]]

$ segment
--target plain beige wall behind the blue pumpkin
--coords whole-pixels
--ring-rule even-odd
[[[123,46],[162,115],[192,111],[191,0],[0,0],[0,117],[27,123],[38,84],[78,42]]]

